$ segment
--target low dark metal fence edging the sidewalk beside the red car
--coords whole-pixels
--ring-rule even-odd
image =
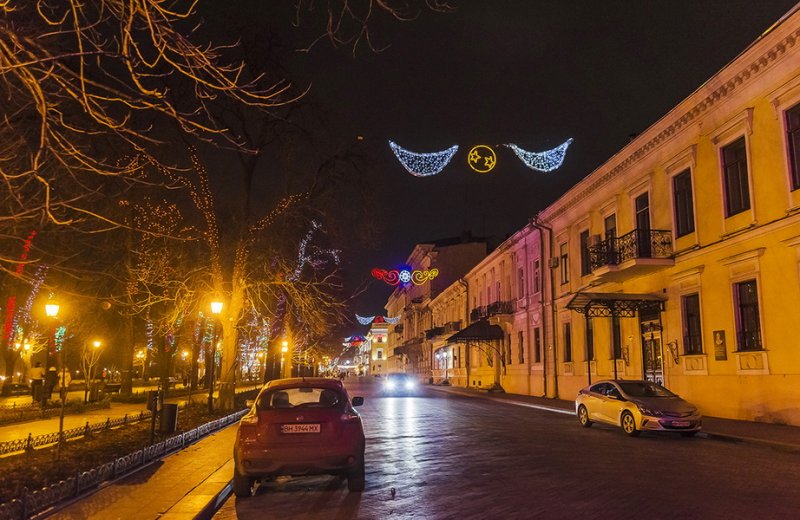
[[[119,457],[113,462],[108,462],[87,471],[80,471],[74,477],[42,489],[33,492],[25,490],[21,498],[0,504],[0,520],[25,520],[42,513],[60,502],[76,498],[86,491],[96,488],[103,482],[122,477],[168,453],[181,450],[209,433],[238,421],[246,413],[247,410],[242,410],[220,419],[215,419],[193,430],[174,435],[157,444]]]

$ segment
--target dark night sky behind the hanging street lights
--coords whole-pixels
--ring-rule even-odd
[[[414,244],[456,236],[503,237],[696,90],[794,5],[791,0],[453,0],[448,14],[380,19],[379,53],[321,42],[297,54],[292,75],[312,83],[341,141],[363,136],[375,179],[379,241],[346,260],[349,280],[402,263]],[[236,2],[226,5],[233,6]],[[265,23],[288,19],[264,14]],[[302,46],[318,27],[291,30]],[[574,142],[552,173],[525,168],[495,147],[487,175],[470,170],[476,144],[541,151]],[[453,144],[438,175],[416,178],[387,140],[416,152]],[[391,288],[374,281],[353,312],[383,313]],[[353,333],[363,333],[355,324]]]

